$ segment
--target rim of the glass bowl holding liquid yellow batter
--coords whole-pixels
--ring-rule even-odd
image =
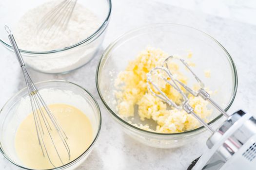
[[[35,85],[38,85],[38,84],[44,84],[44,83],[53,83],[53,82],[57,82],[57,83],[66,83],[66,84],[70,84],[70,85],[75,85],[77,87],[79,87],[80,89],[84,90],[85,93],[87,93],[90,98],[92,99],[92,101],[94,102],[95,106],[96,106],[96,109],[97,109],[97,114],[99,116],[99,120],[98,120],[98,129],[97,129],[97,134],[96,136],[94,137],[92,143],[90,144],[90,146],[83,152],[81,153],[76,159],[74,159],[73,161],[65,164],[65,165],[62,165],[60,167],[57,167],[57,168],[53,168],[53,169],[47,169],[47,170],[64,170],[65,168],[68,168],[72,165],[75,165],[80,159],[82,159],[92,148],[93,146],[95,145],[97,139],[98,139],[98,136],[99,136],[99,133],[100,133],[100,129],[101,129],[101,122],[102,122],[102,118],[101,118],[101,112],[100,112],[100,108],[98,106],[98,102],[96,101],[96,99],[93,97],[93,95],[91,93],[89,93],[85,88],[83,88],[82,86],[80,85],[77,85],[75,83],[72,83],[72,82],[69,82],[69,81],[66,81],[66,80],[47,80],[47,81],[41,81],[41,82],[37,82],[35,83]],[[0,114],[3,110],[3,108],[6,107],[7,103],[11,102],[12,100],[14,100],[20,93],[22,93],[24,90],[26,90],[27,87],[24,87],[22,88],[21,90],[19,90],[17,93],[15,93],[1,108],[0,110]],[[35,169],[29,169],[29,168],[25,168],[25,167],[22,167],[20,165],[18,165],[17,163],[15,163],[13,160],[11,160],[8,155],[6,155],[3,151],[3,148],[2,148],[2,145],[1,145],[1,141],[0,141],[0,152],[3,154],[3,156],[8,160],[10,161],[11,163],[13,163],[14,165],[16,165],[17,167],[20,167],[21,169],[24,169],[24,170],[35,170]]]

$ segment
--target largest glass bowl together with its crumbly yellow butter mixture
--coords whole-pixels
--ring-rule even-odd
[[[149,92],[146,74],[170,55],[193,67],[212,98],[226,111],[237,88],[236,67],[228,52],[211,36],[178,24],[152,24],[123,34],[104,51],[97,68],[98,94],[119,127],[139,142],[157,148],[176,148],[205,131],[197,120],[170,107]],[[194,78],[170,62],[178,79],[190,87]],[[188,71],[187,71],[188,72]],[[180,95],[170,86],[164,92],[177,104]],[[208,102],[187,94],[198,116],[217,123],[219,112]]]

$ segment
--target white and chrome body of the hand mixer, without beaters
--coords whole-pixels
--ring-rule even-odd
[[[256,170],[256,119],[239,110],[206,142],[208,149],[188,170]]]

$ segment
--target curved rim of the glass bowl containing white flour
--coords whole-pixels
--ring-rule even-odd
[[[111,15],[111,11],[112,11],[112,2],[111,0],[107,0],[107,3],[108,3],[108,14],[107,14],[107,17],[104,19],[104,21],[102,22],[102,24],[98,27],[98,29],[91,35],[89,35],[88,37],[86,37],[85,39],[79,41],[78,43],[74,44],[74,45],[71,45],[69,47],[64,47],[64,48],[60,48],[60,49],[56,49],[56,50],[51,50],[51,51],[27,51],[27,50],[22,50],[20,49],[20,52],[21,53],[26,53],[26,54],[51,54],[51,53],[56,53],[56,52],[61,52],[61,51],[66,51],[66,50],[69,50],[69,49],[73,49],[81,44],[84,44],[86,42],[89,42],[91,39],[93,39],[94,37],[96,37],[96,35],[98,34],[102,34],[103,31],[106,29],[107,25],[108,25],[108,22],[109,22],[109,19],[110,19],[110,15]],[[97,37],[96,37],[97,38]],[[9,50],[13,51],[12,50],[12,46],[3,41],[1,38],[0,38],[0,42]],[[29,56],[29,57],[37,57],[37,56]]]

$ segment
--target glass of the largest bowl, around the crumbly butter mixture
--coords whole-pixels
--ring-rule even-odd
[[[231,106],[237,89],[235,64],[214,38],[195,28],[177,24],[153,24],[121,35],[104,51],[97,68],[96,84],[98,94],[111,117],[125,133],[139,142],[158,148],[175,148],[190,143],[204,132],[204,127],[175,134],[161,134],[142,130],[128,121],[143,124],[139,118],[122,119],[116,110],[115,79],[120,71],[125,70],[128,62],[147,46],[160,48],[168,54],[187,56],[193,53],[193,70],[211,90],[217,90],[212,99],[226,111]],[[211,78],[204,76],[204,70],[211,70]],[[211,105],[209,104],[209,107]],[[137,113],[135,113],[137,115]],[[213,109],[209,124],[217,122],[222,115]]]

